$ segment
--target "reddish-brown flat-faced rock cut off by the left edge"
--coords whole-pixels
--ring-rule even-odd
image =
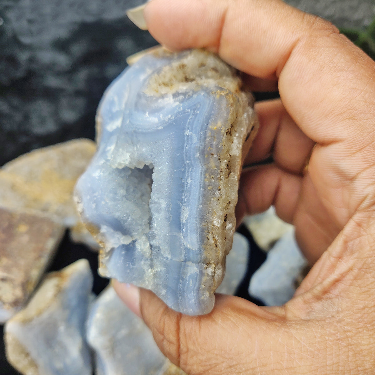
[[[63,236],[47,218],[0,208],[0,322],[27,302]]]

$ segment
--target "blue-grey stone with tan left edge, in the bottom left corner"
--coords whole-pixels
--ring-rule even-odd
[[[6,356],[24,375],[92,375],[85,322],[93,277],[87,260],[49,274],[7,321]]]

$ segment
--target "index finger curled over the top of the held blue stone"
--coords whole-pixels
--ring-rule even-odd
[[[281,0],[152,0],[144,17],[163,45],[207,48],[249,75],[278,78],[284,107],[315,142],[372,132],[375,64],[329,22]]]

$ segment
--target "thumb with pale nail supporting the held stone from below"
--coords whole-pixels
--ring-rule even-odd
[[[151,291],[113,286],[143,318],[162,353],[189,375],[311,374],[315,368],[317,343],[307,336],[316,339],[316,327],[288,321],[284,308],[217,294],[210,314],[192,317],[168,308]]]

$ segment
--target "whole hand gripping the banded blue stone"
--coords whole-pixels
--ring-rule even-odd
[[[261,128],[237,217],[266,210],[296,227],[314,266],[288,303],[216,296],[190,317],[153,293],[114,286],[187,374],[373,374],[375,62],[327,21],[279,0],[152,0],[144,17],[169,49],[207,48],[245,72]],[[305,168],[308,162],[308,168]]]

